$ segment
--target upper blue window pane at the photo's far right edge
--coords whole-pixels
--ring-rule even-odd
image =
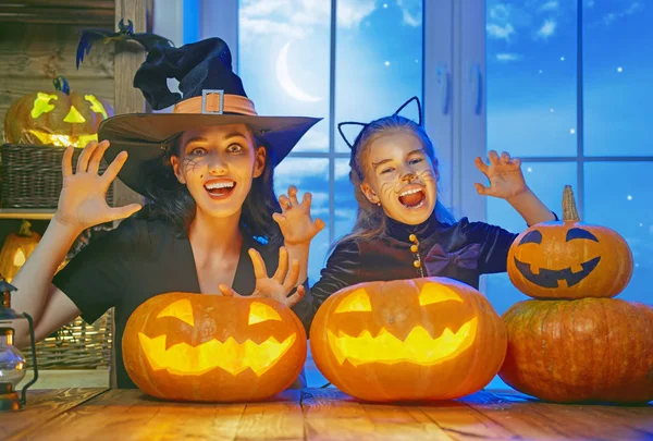
[[[587,1],[583,10],[584,152],[652,156],[653,4]],[[618,148],[615,148],[618,146]]]

